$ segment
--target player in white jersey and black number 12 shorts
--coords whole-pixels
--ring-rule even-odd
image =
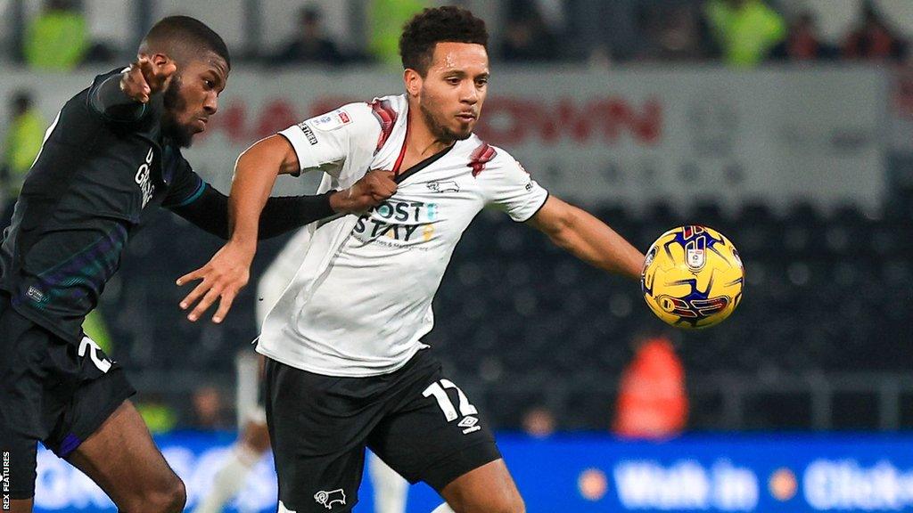
[[[192,273],[204,280],[185,299],[199,299],[192,314],[246,281],[279,173],[322,172],[323,192],[369,172],[396,184],[362,215],[305,228],[296,276],[264,323],[257,351],[267,356],[280,511],[349,511],[365,447],[435,488],[446,500],[436,513],[524,510],[484,417],[421,341],[454,247],[482,208],[503,210],[593,266],[640,276],[635,247],[473,135],[488,93],[487,45],[484,22],[467,10],[425,9],[400,39],[404,95],[302,121],[238,159],[232,238]]]

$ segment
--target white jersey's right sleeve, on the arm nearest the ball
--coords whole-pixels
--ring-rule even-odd
[[[511,219],[519,223],[536,215],[549,197],[548,191],[506,152],[491,162],[490,170],[478,173],[478,178],[487,182],[488,204],[507,212]]]

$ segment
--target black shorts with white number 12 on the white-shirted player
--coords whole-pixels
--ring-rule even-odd
[[[365,446],[409,482],[425,481],[438,492],[501,457],[475,406],[429,353],[366,378],[267,359],[267,419],[282,507],[349,511],[358,502]]]

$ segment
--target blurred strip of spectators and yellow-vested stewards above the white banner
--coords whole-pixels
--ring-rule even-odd
[[[894,0],[499,0],[483,14],[506,63],[875,60],[908,55],[913,16]],[[211,7],[219,5],[214,11]],[[131,58],[140,27],[182,10],[207,15],[236,58],[268,66],[396,62],[402,21],[435,0],[7,0],[5,59],[67,70]],[[327,11],[327,12],[324,12]],[[132,30],[136,28],[136,30]]]

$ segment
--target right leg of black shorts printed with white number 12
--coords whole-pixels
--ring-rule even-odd
[[[441,375],[430,353],[419,351],[415,377],[396,392],[397,403],[368,439],[383,461],[412,483],[438,492],[457,477],[500,459],[485,419],[456,384]]]

